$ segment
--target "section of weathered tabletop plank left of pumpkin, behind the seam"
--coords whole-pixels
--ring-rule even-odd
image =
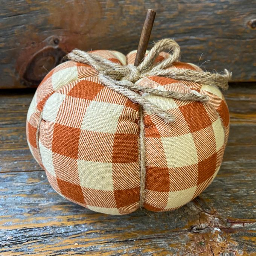
[[[0,92],[0,172],[38,170],[26,142],[26,114],[35,89]]]

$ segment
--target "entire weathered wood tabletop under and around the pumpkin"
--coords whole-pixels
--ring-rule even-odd
[[[0,255],[256,255],[256,84],[230,86],[221,170],[173,212],[94,213],[50,187],[33,160],[25,119],[34,91],[1,91]]]

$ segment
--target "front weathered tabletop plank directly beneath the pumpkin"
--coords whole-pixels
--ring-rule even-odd
[[[253,255],[253,180],[222,175],[174,212],[111,216],[60,197],[41,171],[1,174],[0,255]]]

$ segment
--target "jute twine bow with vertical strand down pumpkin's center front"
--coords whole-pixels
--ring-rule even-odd
[[[154,63],[160,52],[171,51],[168,58]],[[207,102],[209,98],[206,94],[200,94],[197,91],[191,90],[192,93],[181,93],[177,91],[161,91],[150,87],[144,87],[136,84],[140,78],[148,76],[165,76],[175,80],[186,80],[198,82],[204,85],[215,85],[226,90],[228,81],[231,78],[231,73],[224,70],[223,74],[202,72],[190,69],[177,69],[173,67],[173,62],[180,58],[180,46],[172,39],[166,38],[158,41],[149,50],[143,61],[138,67],[128,64],[123,66],[118,63],[111,62],[108,59],[102,58],[94,53],[84,52],[74,49],[67,54],[67,58],[73,61],[88,64],[96,69],[99,74],[99,81],[108,88],[123,94],[131,101],[140,104],[140,207],[145,201],[145,131],[142,115],[142,108],[148,109],[151,113],[161,117],[166,123],[173,122],[175,117],[152,102],[145,99],[141,94],[154,94],[158,96],[179,99],[181,101],[201,101]],[[171,67],[171,69],[167,69]]]

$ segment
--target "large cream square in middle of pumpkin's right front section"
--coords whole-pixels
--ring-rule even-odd
[[[192,134],[161,138],[169,168],[198,163],[197,149]]]

